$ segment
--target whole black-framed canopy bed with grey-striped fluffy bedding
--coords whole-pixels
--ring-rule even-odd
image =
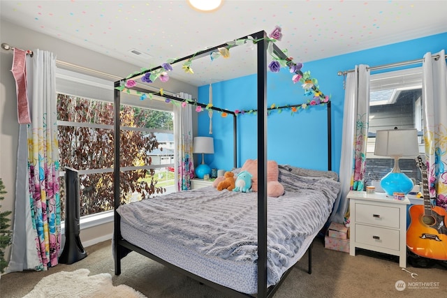
[[[163,94],[163,91],[149,91],[136,84],[126,84],[134,77],[160,73],[163,66],[143,70],[115,82],[115,274],[121,273],[122,258],[129,251],[136,251],[233,297],[271,297],[323,228],[337,198],[339,182],[337,177],[328,178],[327,175],[331,170],[330,102],[328,96],[312,84],[309,89],[328,109],[328,172],[313,171],[309,174],[297,167],[279,165],[278,179],[285,193],[279,198],[268,197],[267,116],[269,110],[281,108],[267,106],[267,69],[272,70],[272,65],[267,64],[268,52],[284,66],[295,69],[297,77],[303,75],[300,68],[295,68],[292,59],[274,44],[274,37],[270,34],[269,38],[265,31],[259,31],[234,43],[211,47],[172,61],[172,64],[186,61],[183,68],[187,71],[193,59],[219,52],[225,54],[226,50],[247,40],[256,44],[257,192],[218,191],[208,186],[121,205],[120,92],[128,89],[169,100],[185,100]],[[237,173],[240,170],[236,164],[237,112],[188,100],[186,103],[233,115],[234,172]],[[301,106],[282,108],[296,110]],[[235,209],[231,209],[228,202]]]

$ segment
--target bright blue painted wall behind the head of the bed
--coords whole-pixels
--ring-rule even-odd
[[[426,52],[434,54],[443,49],[447,50],[447,32],[328,59],[303,62],[302,71],[309,70],[312,77],[318,80],[323,94],[331,96],[332,170],[339,170],[343,131],[344,89],[343,77],[337,75],[338,71],[351,70],[358,64],[379,66],[422,59]],[[212,89],[215,107],[228,110],[256,108],[256,75],[214,83]],[[200,103],[208,102],[208,94],[208,85],[198,88]],[[279,73],[268,72],[268,105],[305,103],[308,99],[309,96],[304,96],[301,84],[293,84],[288,69],[282,68]],[[233,167],[233,116],[223,118],[219,112],[214,112],[212,124],[213,134],[209,135],[207,112],[200,112],[198,135],[214,137],[215,153],[205,156],[205,162],[211,167],[230,170]],[[282,110],[281,113],[272,112],[268,116],[267,126],[268,159],[280,164],[326,170],[328,158],[325,126],[326,110],[322,106],[310,107],[293,115],[287,110]],[[256,158],[256,131],[256,115],[237,116],[237,166],[242,166],[247,158]]]

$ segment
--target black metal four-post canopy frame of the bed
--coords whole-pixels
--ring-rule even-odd
[[[247,39],[249,36],[244,36],[240,39]],[[279,282],[276,285],[272,285],[268,288],[268,276],[267,276],[267,269],[268,269],[268,262],[267,262],[267,117],[268,117],[268,110],[267,107],[267,52],[268,52],[268,42],[269,38],[267,36],[267,33],[265,31],[259,31],[257,33],[251,34],[251,38],[256,40],[256,57],[257,57],[257,131],[258,131],[258,193],[257,193],[257,201],[258,201],[258,261],[257,261],[257,267],[258,267],[258,292],[256,294],[256,297],[258,298],[265,298],[265,297],[272,297],[274,295],[274,292],[277,291],[281,283],[284,281],[284,278],[289,274],[291,269],[288,269]],[[270,40],[271,41],[271,40]],[[172,64],[176,64],[181,61],[192,61],[193,59],[198,59],[200,57],[205,57],[206,55],[216,52],[219,47],[233,47],[235,45],[230,45],[229,43],[223,43],[222,45],[218,45],[216,47],[211,47],[207,50],[203,50],[200,52],[197,52],[196,54],[191,54],[189,56],[186,56],[181,59],[177,59],[172,62]],[[288,59],[286,57],[286,54],[282,52],[277,45],[274,43],[272,44],[272,52],[277,55],[279,59],[286,59],[288,60],[288,66],[290,66],[293,62],[291,59]],[[191,278],[196,279],[197,281],[200,281],[201,283],[205,283],[206,285],[210,285],[212,288],[217,288],[218,290],[221,290],[223,292],[226,292],[230,294],[232,297],[253,297],[252,295],[244,294],[242,292],[238,292],[236,290],[233,290],[231,288],[227,288],[223,285],[219,285],[217,283],[214,283],[212,281],[208,281],[205,278],[202,278],[196,274],[192,274],[189,271],[186,271],[180,267],[177,267],[176,265],[170,264],[169,262],[166,262],[165,260],[162,260],[161,258],[156,257],[156,255],[153,255],[152,253],[149,253],[148,251],[145,251],[144,249],[135,246],[131,244],[129,241],[126,241],[122,238],[121,230],[120,230],[120,216],[117,212],[117,208],[119,207],[119,140],[120,140],[120,120],[119,120],[119,111],[120,111],[120,92],[119,87],[122,87],[123,82],[126,82],[127,80],[131,80],[135,77],[140,77],[142,75],[145,75],[145,73],[152,72],[154,70],[159,70],[163,66],[158,66],[156,68],[152,68],[149,70],[143,70],[139,73],[133,73],[133,75],[129,75],[128,77],[119,80],[115,82],[115,163],[114,163],[114,207],[115,207],[115,223],[114,223],[114,241],[113,241],[113,249],[114,249],[114,257],[115,257],[115,274],[119,275],[121,273],[121,259],[124,258],[124,255],[128,249],[131,251],[136,251],[142,255],[145,255],[149,258],[152,258],[153,260],[156,260],[157,262],[161,262],[163,265],[166,265],[167,267],[170,267],[172,269],[176,269],[177,271],[182,272],[186,276],[190,276]],[[302,73],[300,70],[297,70],[296,73]],[[313,87],[314,88],[314,87]],[[134,89],[135,91],[144,91],[146,93],[151,93],[154,96],[161,96],[163,98],[169,98],[170,100],[180,100],[184,101],[181,98],[176,98],[175,96],[168,96],[167,94],[161,94],[161,92],[148,92],[146,89],[142,89],[140,87],[134,86],[130,89]],[[189,103],[189,102],[188,102]],[[193,102],[194,105],[200,105],[201,107],[206,107],[207,105],[203,103]],[[297,105],[298,106],[298,105]],[[329,169],[331,165],[330,161],[330,102],[327,103],[328,106],[328,156],[329,156]],[[208,107],[212,108],[212,110],[219,110],[226,112],[228,114],[232,114],[234,116],[234,128],[236,128],[236,114],[233,111],[223,110],[219,109],[218,107]],[[236,129],[234,131],[235,135],[235,156],[236,156]],[[235,159],[236,162],[236,159]],[[236,167],[236,165],[235,165]],[[312,245],[310,246],[312,247]],[[310,251],[309,251],[310,253]],[[310,261],[310,254],[309,254],[309,261]],[[310,264],[309,264],[310,266]],[[309,273],[311,272],[311,269],[309,267]]]

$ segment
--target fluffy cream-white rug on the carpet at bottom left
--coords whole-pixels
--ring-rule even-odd
[[[112,284],[108,273],[89,276],[88,269],[60,271],[41,279],[24,298],[146,298],[127,285]]]

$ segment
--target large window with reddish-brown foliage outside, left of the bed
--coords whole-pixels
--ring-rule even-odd
[[[112,85],[112,82],[59,70],[57,111],[62,219],[65,166],[79,171],[81,217],[113,209]],[[147,103],[135,106],[140,100],[126,96],[122,102],[122,200],[141,200],[175,191],[174,174],[170,170],[174,167],[175,151],[172,105],[150,100],[151,106]]]

